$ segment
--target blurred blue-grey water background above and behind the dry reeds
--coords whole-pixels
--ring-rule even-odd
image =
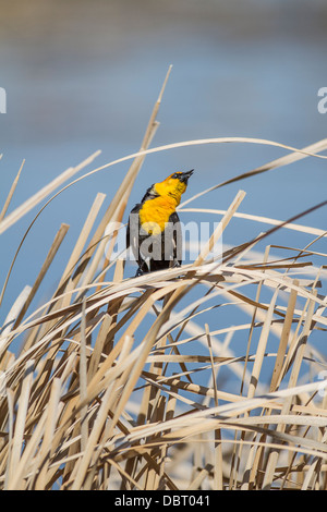
[[[327,114],[317,109],[318,89],[327,86],[323,0],[1,0],[0,9],[0,87],[7,90],[0,209],[24,158],[10,211],[97,149],[102,153],[92,169],[136,151],[170,64],[153,147],[245,136],[300,148],[327,136]],[[152,155],[128,209],[174,170],[195,169],[186,199],[286,153],[219,144]],[[71,228],[45,280],[44,297],[47,287],[55,289],[96,193],[106,193],[108,205],[129,164],[83,180],[45,209],[15,263],[1,321],[24,285],[33,284],[55,233],[66,222]],[[240,211],[286,220],[326,199],[326,175],[324,160],[304,159],[190,206],[226,209],[244,188]],[[1,236],[1,288],[36,212]],[[326,208],[319,209],[299,223],[326,229]],[[264,229],[234,219],[225,242],[239,244]],[[275,242],[295,247],[313,240],[300,241],[284,230],[276,236]],[[322,241],[315,249],[326,252]]]

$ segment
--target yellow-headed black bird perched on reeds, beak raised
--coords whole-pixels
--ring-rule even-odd
[[[132,209],[126,246],[138,263],[136,276],[181,265],[182,231],[175,208],[192,174],[193,170],[174,172],[153,184]]]

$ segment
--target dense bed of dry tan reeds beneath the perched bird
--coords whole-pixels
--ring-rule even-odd
[[[243,191],[226,211],[190,207],[192,199],[229,183],[303,158],[326,159],[320,151],[327,139],[303,149],[241,137],[149,149],[168,75],[137,154],[85,171],[96,153],[7,214],[21,168],[4,200],[0,234],[36,207],[34,221],[40,221],[47,205],[78,180],[131,163],[106,211],[100,216],[102,193],[85,211],[53,295],[32,310],[66,224],[3,322],[1,489],[327,487],[326,356],[315,342],[327,329],[327,254],[315,244],[327,233],[298,223],[303,211],[283,220],[240,212]],[[146,155],[226,142],[266,144],[287,155],[180,205],[196,218],[210,214],[220,220],[194,263],[124,277],[124,259],[110,258],[118,233],[106,229],[125,218]],[[255,223],[257,236],[209,257],[234,218]],[[34,221],[11,268],[1,269],[7,276],[1,301]],[[263,225],[268,229],[262,231]],[[280,230],[302,234],[303,246],[271,245],[270,236],[276,241]],[[21,349],[14,351],[17,340]]]

